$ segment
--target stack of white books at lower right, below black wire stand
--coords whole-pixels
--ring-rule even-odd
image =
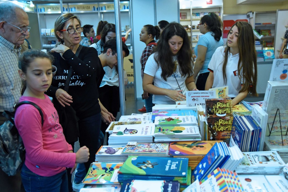
[[[285,166],[277,151],[243,152],[237,174],[279,174]]]

